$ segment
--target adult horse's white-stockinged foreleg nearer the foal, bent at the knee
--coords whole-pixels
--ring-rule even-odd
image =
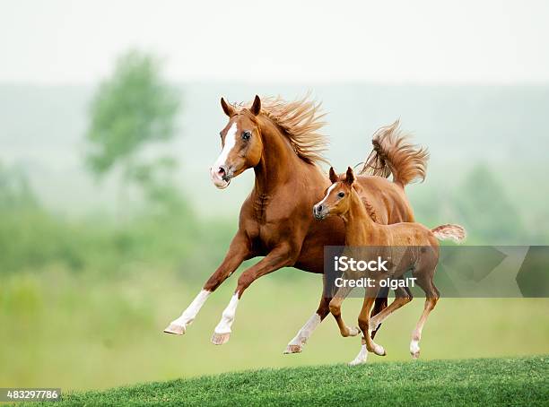
[[[231,337],[231,326],[236,315],[236,308],[239,305],[240,297],[242,297],[244,290],[262,275],[273,273],[282,267],[294,264],[295,258],[296,255],[289,247],[277,247],[257,264],[254,264],[245,270],[244,273],[240,274],[237,289],[234,291],[229,305],[223,311],[221,321],[213,330],[213,344],[222,345],[229,341],[229,338]]]

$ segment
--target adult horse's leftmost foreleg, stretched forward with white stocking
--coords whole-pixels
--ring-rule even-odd
[[[205,300],[209,295],[216,290],[223,281],[227,279],[240,264],[250,256],[250,245],[246,235],[239,231],[237,235],[232,238],[231,246],[222,264],[215,270],[208,281],[205,282],[204,288],[198,293],[196,298],[190,303],[190,305],[183,311],[179,318],[171,321],[170,325],[164,329],[165,333],[175,333],[182,335],[187,331],[187,326],[190,325],[196,318],[198,311],[204,305]]]

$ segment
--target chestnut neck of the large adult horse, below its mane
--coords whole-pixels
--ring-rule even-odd
[[[257,195],[268,197],[277,186],[296,177],[297,167],[301,163],[284,134],[267,118],[261,120],[261,136],[263,153],[261,160],[254,167],[254,190]]]

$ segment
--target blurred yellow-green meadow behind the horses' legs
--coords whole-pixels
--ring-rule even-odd
[[[142,268],[143,267],[143,268]],[[162,333],[194,297],[199,284],[166,270],[136,266],[98,280],[52,266],[4,279],[0,291],[0,382],[4,386],[105,388],[144,381],[240,370],[344,363],[360,349],[342,338],[331,317],[301,354],[285,345],[318,305],[315,276],[292,270],[257,281],[243,298],[231,341],[209,342],[231,297],[233,281],[211,297],[188,332]],[[352,323],[360,299],[344,304]],[[547,299],[441,299],[423,331],[422,359],[461,359],[549,352]],[[408,360],[410,333],[423,309],[414,299],[388,320],[378,339],[388,355]],[[411,361],[411,360],[410,360]]]

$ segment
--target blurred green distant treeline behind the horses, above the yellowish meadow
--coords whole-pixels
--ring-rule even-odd
[[[0,273],[63,266],[109,275],[143,266],[203,279],[221,261],[237,220],[198,217],[183,193],[165,188],[123,217],[105,212],[69,219],[40,204],[20,171],[0,168]],[[467,244],[549,241],[545,230],[525,229],[505,187],[486,167],[475,167],[452,191],[451,197],[417,191],[418,221],[459,222],[468,231]]]

